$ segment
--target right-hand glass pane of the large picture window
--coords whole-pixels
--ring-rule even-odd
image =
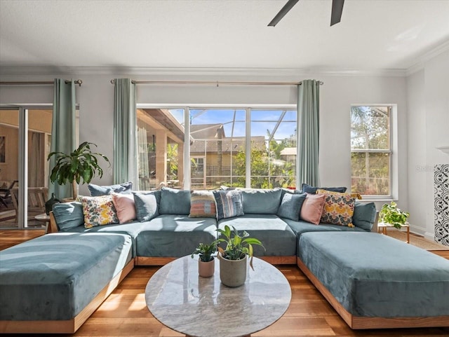
[[[251,111],[253,188],[295,186],[296,111]]]

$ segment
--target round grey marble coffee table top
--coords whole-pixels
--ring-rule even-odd
[[[148,281],[145,300],[152,315],[187,336],[249,336],[270,326],[290,305],[286,277],[271,264],[254,258],[246,283],[229,288],[215,274],[198,275],[198,260],[184,256],[166,264]]]

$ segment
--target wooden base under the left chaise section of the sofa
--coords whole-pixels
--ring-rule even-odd
[[[133,268],[134,260],[131,260],[121,270],[121,273],[117,274],[93,298],[91,303],[72,319],[54,321],[0,321],[0,333],[74,333],[97,310],[101,303],[116,289],[119,283]]]

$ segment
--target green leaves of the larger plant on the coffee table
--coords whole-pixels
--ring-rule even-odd
[[[244,259],[245,256],[249,256],[250,258],[250,266],[253,268],[253,245],[258,245],[265,247],[262,245],[260,240],[255,238],[249,238],[249,234],[246,231],[240,235],[236,228],[229,226],[225,226],[225,229],[217,229],[223,238],[217,239],[218,242],[225,242],[226,247],[223,249],[222,247],[218,247],[218,251],[222,255],[223,258],[228,260],[241,260]]]

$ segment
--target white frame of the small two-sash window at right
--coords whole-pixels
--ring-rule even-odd
[[[387,106],[389,109],[389,149],[352,149],[350,153],[389,153],[389,194],[388,195],[366,195],[362,194],[363,200],[389,201],[398,198],[398,124],[397,124],[397,104],[351,104],[349,113],[354,106]],[[349,115],[350,116],[350,115]],[[349,123],[351,123],[349,118]],[[350,128],[350,131],[352,129]],[[352,177],[352,163],[350,163]],[[352,179],[351,179],[352,180]]]

